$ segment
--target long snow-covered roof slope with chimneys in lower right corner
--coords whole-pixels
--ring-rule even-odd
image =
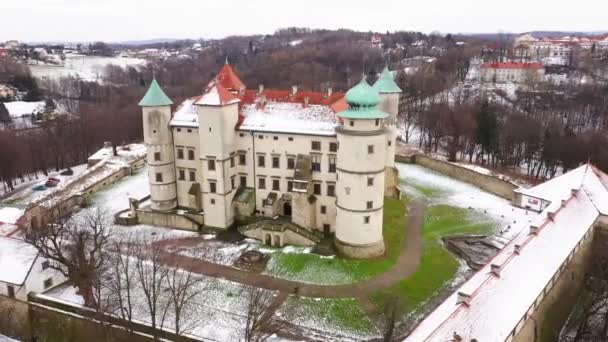
[[[584,191],[563,199],[563,207],[561,201],[551,204],[533,221],[537,235],[524,228],[406,341],[449,341],[454,333],[463,341],[504,341],[599,215]],[[547,218],[549,212],[555,213],[553,220]],[[521,246],[519,253],[515,245]],[[492,274],[491,264],[500,267],[498,276]],[[466,296],[468,303],[459,301]]]

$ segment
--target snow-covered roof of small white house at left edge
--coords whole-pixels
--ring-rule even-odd
[[[23,284],[37,256],[38,250],[23,240],[0,237],[0,281]]]

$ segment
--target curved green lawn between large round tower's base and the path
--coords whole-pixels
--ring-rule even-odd
[[[399,257],[407,225],[406,207],[406,199],[384,201],[383,234],[386,253],[382,258],[324,258],[316,254],[282,253],[277,250],[272,254],[265,273],[277,278],[314,284],[347,284],[384,273]]]

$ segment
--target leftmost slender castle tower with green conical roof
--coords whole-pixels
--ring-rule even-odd
[[[147,149],[148,181],[153,210],[169,211],[177,207],[173,136],[169,129],[172,104],[156,79],[152,80],[146,95],[139,102],[143,111],[144,143]]]

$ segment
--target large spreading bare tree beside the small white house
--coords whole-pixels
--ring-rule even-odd
[[[108,226],[108,216],[94,209],[26,232],[26,241],[78,288],[85,306],[95,309],[94,289],[107,262]]]

